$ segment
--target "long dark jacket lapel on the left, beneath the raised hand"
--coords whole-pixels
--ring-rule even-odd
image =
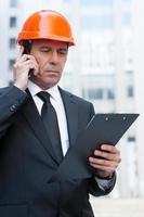
[[[28,102],[23,107],[23,114],[24,114],[26,120],[28,122],[31,130],[34,131],[36,137],[39,139],[41,144],[43,145],[44,150],[57,163],[51,141],[48,137],[48,133],[44,129],[43,123],[40,118],[39,112],[35,105],[35,102],[34,102],[31,95],[29,95]]]

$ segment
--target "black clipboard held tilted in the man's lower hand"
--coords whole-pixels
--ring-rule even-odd
[[[88,157],[93,150],[103,143],[116,145],[138,116],[139,114],[95,114],[75,144],[68,149],[53,178],[61,181],[90,178],[92,167]]]

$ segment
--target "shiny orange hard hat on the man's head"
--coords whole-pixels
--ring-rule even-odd
[[[35,12],[24,23],[17,42],[22,44],[23,40],[32,39],[58,40],[75,46],[68,21],[62,14],[51,10]]]

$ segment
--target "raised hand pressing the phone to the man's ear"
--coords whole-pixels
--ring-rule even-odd
[[[13,69],[14,86],[22,90],[26,90],[30,69],[32,69],[34,75],[37,75],[39,71],[38,63],[35,56],[24,54],[24,47],[21,47]]]

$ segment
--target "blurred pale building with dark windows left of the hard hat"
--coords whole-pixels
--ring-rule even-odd
[[[0,85],[12,80],[12,67],[16,56],[15,37],[18,30],[21,10],[17,0],[0,1]]]

